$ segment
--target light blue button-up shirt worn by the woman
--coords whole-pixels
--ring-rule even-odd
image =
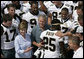
[[[31,58],[32,57],[32,50],[24,53],[24,50],[26,50],[28,47],[31,47],[31,39],[28,34],[25,35],[25,39],[22,37],[22,35],[17,35],[15,38],[15,57],[16,58]]]

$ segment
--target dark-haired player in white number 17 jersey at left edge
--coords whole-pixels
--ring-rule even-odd
[[[12,17],[9,14],[3,15],[1,24],[1,50],[4,58],[14,58],[14,39],[16,29],[12,26]]]

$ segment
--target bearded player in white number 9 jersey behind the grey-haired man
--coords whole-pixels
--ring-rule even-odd
[[[31,3],[31,9],[26,14],[22,15],[22,19],[28,22],[28,30],[27,33],[31,35],[32,28],[38,25],[38,16],[40,14],[45,14],[38,10],[38,2]]]

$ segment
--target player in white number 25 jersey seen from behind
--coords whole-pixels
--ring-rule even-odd
[[[44,46],[38,48],[34,53],[37,58],[60,58],[60,52],[65,52],[65,50],[63,50],[65,49],[63,39],[55,36],[55,33],[61,29],[59,24],[59,20],[54,20],[52,21],[51,30],[45,30],[41,33],[40,38]]]

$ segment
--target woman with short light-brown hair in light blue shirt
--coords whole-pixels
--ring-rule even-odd
[[[23,20],[19,25],[20,34],[15,38],[16,58],[31,58],[32,47],[31,39],[27,32],[27,22]]]

